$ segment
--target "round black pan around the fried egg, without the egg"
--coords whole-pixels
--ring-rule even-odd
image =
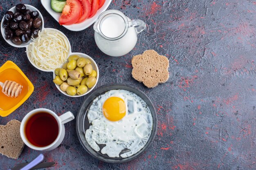
[[[127,157],[127,158],[108,157],[108,155],[102,154],[101,150],[99,152],[93,150],[85,139],[85,131],[91,125],[91,124],[89,124],[87,113],[88,113],[88,109],[90,108],[90,105],[92,104],[92,101],[97,96],[99,96],[101,94],[104,94],[107,91],[116,90],[116,89],[123,89],[123,90],[131,91],[132,93],[135,93],[139,97],[141,97],[146,102],[146,104],[148,105],[148,107],[151,111],[152,117],[153,117],[153,128],[152,128],[152,132],[151,132],[150,138],[148,139],[147,144],[139,152],[137,152],[136,154],[134,154],[130,157]],[[136,159],[137,157],[139,157],[152,143],[153,139],[155,138],[155,134],[157,132],[157,115],[156,115],[156,112],[155,112],[155,108],[154,108],[152,102],[150,101],[150,99],[139,89],[137,89],[135,87],[132,87],[132,86],[124,85],[124,84],[108,84],[108,85],[104,85],[104,86],[101,86],[101,87],[95,89],[85,99],[85,101],[81,105],[81,107],[79,109],[79,112],[76,116],[76,132],[77,132],[77,136],[78,136],[79,141],[82,144],[83,148],[85,148],[85,150],[87,152],[89,152],[90,155],[92,155],[93,157],[96,157],[97,159],[99,159],[101,161],[104,161],[104,162],[108,162],[108,163],[128,162],[128,161],[131,161],[131,160]],[[102,149],[104,146],[105,145],[99,145],[100,149]],[[127,150],[123,150],[120,153],[120,155],[124,152],[127,152]]]

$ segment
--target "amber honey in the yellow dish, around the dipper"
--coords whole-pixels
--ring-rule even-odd
[[[13,68],[7,68],[0,73],[0,82],[4,83],[6,80],[17,82],[18,84],[22,85],[23,88],[20,95],[15,98],[8,97],[4,93],[2,93],[2,88],[0,87],[0,110],[9,110],[10,108],[18,104],[29,91],[29,85],[27,84],[26,79]]]

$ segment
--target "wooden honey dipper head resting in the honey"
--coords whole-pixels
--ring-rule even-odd
[[[18,97],[23,87],[20,84],[11,80],[6,80],[4,83],[0,82],[0,86],[2,87],[2,93],[7,95],[8,97]]]

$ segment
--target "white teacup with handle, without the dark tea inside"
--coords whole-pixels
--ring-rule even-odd
[[[44,112],[44,113],[49,113],[50,115],[52,115],[56,121],[58,122],[58,136],[56,137],[56,139],[49,144],[48,146],[43,146],[43,147],[38,147],[35,146],[33,144],[31,144],[31,142],[29,142],[29,140],[27,139],[26,135],[25,135],[25,124],[27,123],[27,120],[32,117],[32,115],[36,115],[36,113],[40,113],[40,112]],[[64,139],[65,136],[65,126],[64,124],[73,120],[74,119],[74,115],[71,112],[67,112],[64,113],[61,116],[56,115],[56,113],[54,113],[52,110],[46,109],[46,108],[38,108],[35,110],[30,111],[23,119],[22,122],[20,124],[20,136],[22,138],[22,141],[29,147],[32,148],[34,150],[40,150],[40,151],[49,151],[49,150],[53,150],[55,148],[57,148],[61,142]]]

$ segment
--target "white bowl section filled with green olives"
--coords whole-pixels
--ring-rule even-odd
[[[67,62],[53,73],[58,90],[69,97],[81,97],[94,89],[99,79],[96,62],[83,53],[70,53]]]

